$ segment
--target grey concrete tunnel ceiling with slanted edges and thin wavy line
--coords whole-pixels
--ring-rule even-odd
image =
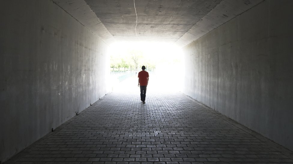
[[[53,0],[107,44],[184,47],[264,0]]]

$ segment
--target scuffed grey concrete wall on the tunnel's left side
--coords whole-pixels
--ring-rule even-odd
[[[0,161],[104,96],[108,46],[50,0],[0,2]]]

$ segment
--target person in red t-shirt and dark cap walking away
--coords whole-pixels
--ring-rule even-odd
[[[138,85],[140,87],[140,100],[146,103],[146,86],[149,83],[149,73],[145,71],[146,67],[141,67],[142,71],[138,73]]]

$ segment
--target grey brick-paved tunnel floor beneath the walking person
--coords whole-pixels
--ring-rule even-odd
[[[136,88],[138,90],[138,88]],[[292,152],[177,93],[113,92],[8,163],[293,163]]]

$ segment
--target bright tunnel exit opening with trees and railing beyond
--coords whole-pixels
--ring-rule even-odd
[[[110,46],[112,91],[137,90],[137,74],[145,65],[150,75],[150,91],[181,91],[182,49],[166,42],[115,42]]]

